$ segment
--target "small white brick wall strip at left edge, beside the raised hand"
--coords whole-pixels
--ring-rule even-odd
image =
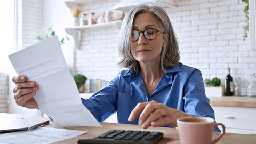
[[[6,99],[8,82],[8,74],[0,73],[0,113],[8,113],[8,103]]]

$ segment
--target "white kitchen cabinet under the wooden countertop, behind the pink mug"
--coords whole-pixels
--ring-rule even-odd
[[[212,106],[227,133],[256,134],[256,108]],[[219,127],[222,130],[222,127]]]

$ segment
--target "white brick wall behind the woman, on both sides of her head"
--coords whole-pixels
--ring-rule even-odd
[[[113,9],[119,0],[82,5],[82,12],[96,15]],[[165,9],[177,33],[181,62],[199,68],[203,78],[224,79],[227,67],[234,79],[250,79],[256,73],[256,52],[249,38],[243,41],[245,4],[241,0],[174,0],[178,7]],[[76,50],[76,73],[109,80],[119,69],[119,30],[114,26],[81,32]],[[88,81],[87,81],[88,82]]]

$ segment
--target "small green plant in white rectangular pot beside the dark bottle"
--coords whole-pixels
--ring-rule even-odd
[[[212,80],[209,78],[204,79],[205,94],[207,97],[222,97],[224,95],[224,87],[221,80],[214,77]]]

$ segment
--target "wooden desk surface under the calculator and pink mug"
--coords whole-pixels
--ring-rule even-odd
[[[31,125],[36,123],[37,121],[42,121],[47,119],[47,117],[36,117],[36,116],[23,116],[25,121]],[[107,132],[112,129],[117,130],[140,130],[143,131],[141,126],[139,125],[131,125],[131,124],[116,124],[116,123],[103,123],[100,122],[102,127],[91,127],[91,126],[79,126],[79,127],[65,127],[66,129],[73,129],[73,130],[82,130],[87,131],[87,133],[83,135],[79,135],[78,137],[59,141],[56,143],[77,143],[78,139],[92,139],[97,137],[98,135]],[[44,127],[53,127],[53,128],[61,128],[57,123],[51,121],[50,124],[45,125]],[[173,140],[179,139],[179,134],[176,129],[167,128],[167,127],[149,127],[147,131],[160,131],[164,133],[164,137],[158,143],[167,143]],[[218,137],[219,132],[213,132],[213,138]],[[240,144],[240,143],[255,143],[256,135],[246,135],[246,134],[234,134],[234,133],[226,133],[223,138],[219,141],[222,144]]]

